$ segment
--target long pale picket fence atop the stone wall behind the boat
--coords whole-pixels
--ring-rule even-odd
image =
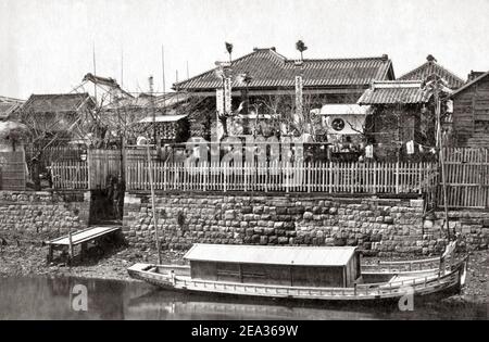
[[[152,162],[156,190],[422,193],[432,187],[429,163],[275,163],[271,165]],[[149,190],[149,166],[127,161],[126,189]]]

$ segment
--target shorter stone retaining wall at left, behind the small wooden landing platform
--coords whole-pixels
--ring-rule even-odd
[[[86,228],[89,206],[90,192],[0,191],[0,235]]]

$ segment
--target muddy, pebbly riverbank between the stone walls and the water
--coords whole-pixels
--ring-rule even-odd
[[[114,279],[136,281],[127,275],[127,267],[134,263],[158,263],[154,251],[140,251],[131,248],[118,246],[100,257],[90,257],[84,263],[76,263],[72,267],[63,263],[47,265],[48,248],[38,241],[7,241],[0,246],[0,277],[13,276],[72,276],[98,279]],[[164,264],[183,264],[181,251],[163,251]],[[366,258],[375,262],[378,258]],[[489,303],[488,302],[489,256],[487,251],[473,252],[467,269],[467,284],[463,294],[452,296],[448,301]]]

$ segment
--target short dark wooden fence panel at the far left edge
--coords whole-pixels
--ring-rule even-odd
[[[24,151],[0,152],[0,190],[25,190]]]

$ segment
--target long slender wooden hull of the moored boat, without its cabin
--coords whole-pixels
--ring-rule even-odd
[[[250,296],[268,297],[275,300],[300,300],[322,302],[397,302],[412,296],[416,301],[437,301],[460,293],[464,284],[466,261],[453,266],[446,275],[414,275],[410,281],[401,283],[381,283],[359,286],[355,288],[298,288],[284,286],[269,286],[260,283],[235,283],[226,281],[196,280],[189,276],[189,269],[158,273],[161,266],[151,264],[136,264],[128,269],[130,277],[160,287],[188,293],[209,293],[220,296]]]

